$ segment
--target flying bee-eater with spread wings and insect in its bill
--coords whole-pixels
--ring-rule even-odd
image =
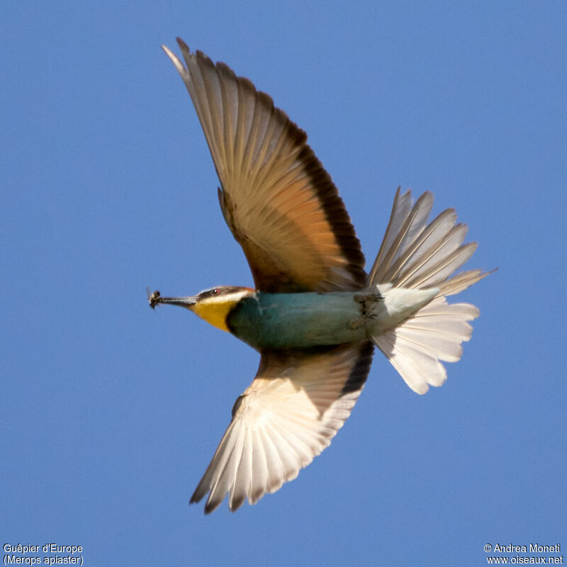
[[[307,135],[268,94],[228,65],[162,45],[189,91],[213,158],[220,209],[254,288],[196,296],[149,294],[256,349],[259,368],[191,496],[205,513],[228,495],[237,510],[291,481],[329,446],[364,388],[377,347],[418,394],[441,386],[461,358],[479,310],[447,298],[490,272],[459,271],[476,249],[449,208],[429,220],[433,195],[395,192],[368,272],[331,176]]]

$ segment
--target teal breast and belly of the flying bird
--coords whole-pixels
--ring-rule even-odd
[[[230,311],[233,335],[255,349],[309,348],[367,339],[356,293],[262,293]]]

